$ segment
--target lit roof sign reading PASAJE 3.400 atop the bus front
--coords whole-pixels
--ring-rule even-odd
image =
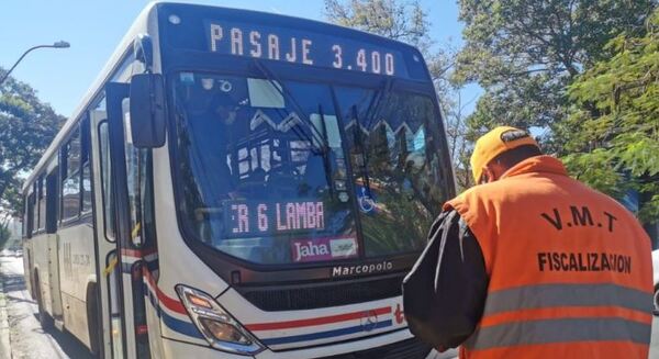
[[[371,43],[225,21],[206,21],[206,34],[213,53],[407,77],[400,52]]]

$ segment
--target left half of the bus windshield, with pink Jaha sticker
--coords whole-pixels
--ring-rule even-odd
[[[179,178],[188,229],[258,263],[339,260],[358,244],[328,87],[180,74]],[[303,113],[300,113],[303,112]],[[321,134],[321,138],[319,138]]]

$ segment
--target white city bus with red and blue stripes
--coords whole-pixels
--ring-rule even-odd
[[[454,194],[416,48],[152,3],[25,181],[26,283],[102,358],[424,358],[401,281]]]

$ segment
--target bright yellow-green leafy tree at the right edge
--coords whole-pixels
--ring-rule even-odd
[[[638,192],[648,223],[659,218],[659,10],[641,29],[610,41],[613,57],[578,77],[558,134],[573,176],[618,199]]]

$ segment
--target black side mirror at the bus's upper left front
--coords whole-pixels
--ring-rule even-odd
[[[131,78],[131,137],[137,148],[165,144],[164,86],[159,74],[138,74]]]

